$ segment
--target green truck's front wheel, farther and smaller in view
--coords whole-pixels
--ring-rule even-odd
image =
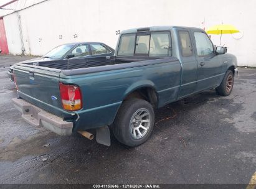
[[[229,96],[233,90],[234,86],[234,73],[231,70],[227,70],[224,75],[220,86],[216,88],[216,93],[221,96]]]

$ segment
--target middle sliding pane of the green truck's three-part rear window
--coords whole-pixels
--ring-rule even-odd
[[[150,35],[137,35],[135,54],[148,56]]]

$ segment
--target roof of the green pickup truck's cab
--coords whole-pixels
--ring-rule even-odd
[[[128,29],[128,30],[123,30],[121,34],[129,34],[129,33],[135,33],[138,30],[142,31],[159,31],[159,30],[171,30],[173,28],[183,28],[183,29],[197,29],[197,30],[202,30],[197,27],[187,27],[187,26],[177,26],[177,25],[160,25],[160,26],[150,26],[150,27],[138,27],[138,28],[133,28],[133,29]],[[202,30],[204,31],[204,30]]]

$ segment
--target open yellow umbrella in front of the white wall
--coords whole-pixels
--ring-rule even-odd
[[[230,24],[220,24],[214,25],[206,30],[207,34],[216,34],[220,35],[220,42],[222,34],[234,34],[240,32],[238,29],[235,28],[234,25]],[[220,44],[219,42],[219,44]]]

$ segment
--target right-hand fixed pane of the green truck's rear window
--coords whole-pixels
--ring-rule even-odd
[[[171,36],[169,32],[152,32],[150,39],[149,57],[168,57]]]

